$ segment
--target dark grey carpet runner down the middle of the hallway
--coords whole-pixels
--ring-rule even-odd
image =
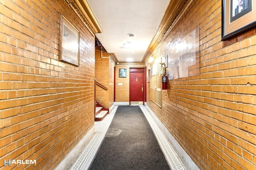
[[[90,170],[169,170],[139,106],[118,106]]]

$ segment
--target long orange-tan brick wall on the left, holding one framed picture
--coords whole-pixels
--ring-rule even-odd
[[[53,169],[94,125],[94,35],[64,1],[0,8],[0,168]],[[58,59],[59,13],[80,31],[80,66]]]

